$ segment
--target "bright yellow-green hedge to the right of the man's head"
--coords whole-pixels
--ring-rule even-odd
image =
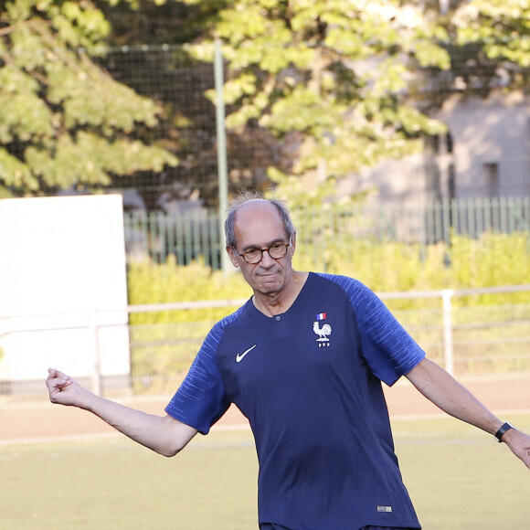
[[[361,239],[351,249],[330,245],[324,266],[329,272],[354,276],[376,292],[479,289],[530,283],[528,234],[484,234],[479,239],[453,236],[449,249],[429,245],[372,243]],[[454,304],[528,303],[530,292],[455,297]],[[388,301],[394,309],[438,306],[437,299]]]

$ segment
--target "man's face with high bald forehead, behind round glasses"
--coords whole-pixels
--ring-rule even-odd
[[[253,200],[239,207],[236,214],[234,233],[239,253],[250,249],[269,248],[275,243],[289,243],[281,216],[276,207],[262,200]],[[296,242],[287,249],[280,260],[270,258],[264,251],[258,263],[247,263],[233,249],[228,248],[230,260],[240,267],[243,277],[254,292],[272,294],[281,292],[292,278],[292,254]]]

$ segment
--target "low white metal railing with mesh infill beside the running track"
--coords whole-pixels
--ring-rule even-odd
[[[484,376],[530,372],[530,304],[460,307],[455,306],[454,300],[462,296],[521,291],[530,291],[530,285],[459,291],[387,292],[379,293],[379,296],[384,301],[403,298],[439,299],[438,308],[393,313],[429,357],[451,374]],[[228,312],[229,308],[237,307],[243,302],[245,301],[217,300],[147,304],[129,306],[126,311],[131,314],[227,307]],[[118,329],[123,324],[101,322],[97,313],[85,314],[84,317],[88,320],[84,324],[80,321],[80,314],[75,322],[71,320],[71,313],[62,316],[69,319],[70,323],[65,321],[66,323],[61,324],[61,315],[54,315],[53,325],[44,323],[34,325],[31,329],[17,325],[14,319],[0,319],[0,344],[7,336],[13,338],[14,335],[23,334],[42,334],[43,338],[55,334],[55,340],[60,342],[60,334],[69,334],[74,329],[80,331],[76,340],[85,341],[85,355],[90,356],[90,359],[84,359],[84,371],[71,375],[98,394],[173,393],[213,324],[211,321],[200,321],[125,325],[130,356],[127,369],[123,373],[109,375],[101,369],[105,366],[105,355],[110,355],[108,351],[106,354],[101,351],[102,339],[109,330]],[[7,400],[44,398],[45,390],[43,379],[25,379],[19,376],[16,380],[0,381],[0,397]]]

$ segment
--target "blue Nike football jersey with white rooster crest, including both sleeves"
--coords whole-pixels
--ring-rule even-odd
[[[260,525],[419,528],[381,381],[424,355],[362,283],[310,273],[286,313],[249,301],[218,322],[166,412],[204,434],[230,403],[249,419]]]

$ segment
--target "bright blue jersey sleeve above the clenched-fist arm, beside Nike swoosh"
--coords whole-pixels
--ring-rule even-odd
[[[222,330],[222,323],[217,323],[207,334],[185,380],[165,408],[169,416],[202,434],[207,434],[229,407],[216,362]]]

